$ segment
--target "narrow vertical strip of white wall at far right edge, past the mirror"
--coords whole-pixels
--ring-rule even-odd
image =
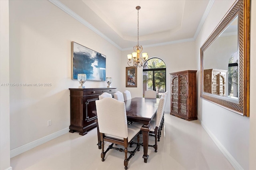
[[[250,38],[250,170],[256,170],[256,0],[251,1]]]

